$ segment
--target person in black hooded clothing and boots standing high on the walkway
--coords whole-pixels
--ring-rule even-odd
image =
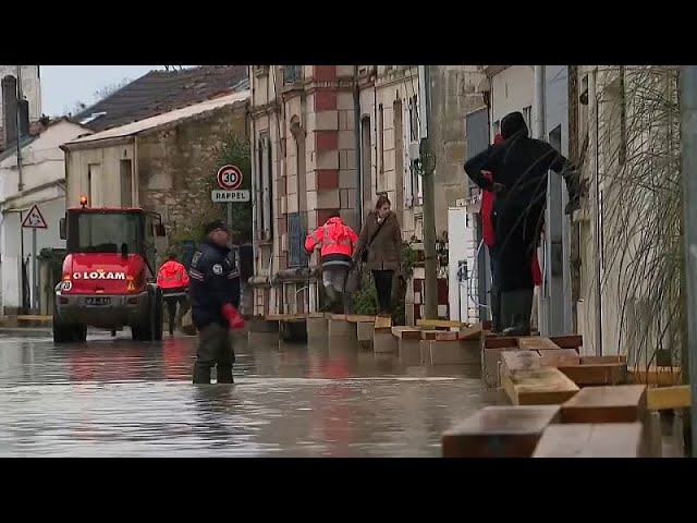
[[[497,194],[494,275],[501,292],[503,335],[529,336],[534,293],[530,260],[547,205],[547,173],[552,170],[564,178],[567,215],[579,207],[580,187],[578,173],[566,158],[548,143],[528,136],[521,112],[503,118],[501,135],[503,142],[469,159],[465,172],[480,188]],[[494,179],[487,179],[482,171],[492,172]]]

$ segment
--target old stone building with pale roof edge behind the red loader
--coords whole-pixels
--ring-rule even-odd
[[[224,217],[210,194],[217,155],[228,137],[247,138],[248,97],[225,95],[64,144],[68,200],[84,194],[93,206],[143,207],[162,216],[168,236],[197,236],[196,224]],[[162,255],[168,239],[158,241]]]

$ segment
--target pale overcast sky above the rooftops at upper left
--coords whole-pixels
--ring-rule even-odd
[[[123,78],[136,80],[154,69],[164,65],[41,65],[44,113],[65,114],[77,101],[90,106],[97,101],[96,90]]]

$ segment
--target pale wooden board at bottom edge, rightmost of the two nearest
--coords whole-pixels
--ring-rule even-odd
[[[640,458],[640,423],[549,425],[533,458]]]

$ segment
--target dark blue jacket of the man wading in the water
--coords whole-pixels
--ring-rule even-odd
[[[229,258],[230,250],[206,241],[198,245],[188,269],[192,319],[197,329],[210,324],[228,327],[221,308],[240,306],[240,271]]]

